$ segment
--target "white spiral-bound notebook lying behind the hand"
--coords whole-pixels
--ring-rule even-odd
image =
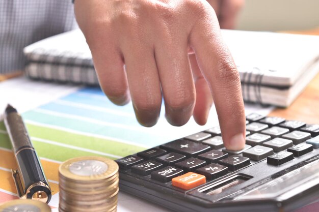
[[[222,30],[240,72],[245,101],[286,107],[319,72],[319,36]],[[79,29],[24,48],[32,79],[98,85]]]

